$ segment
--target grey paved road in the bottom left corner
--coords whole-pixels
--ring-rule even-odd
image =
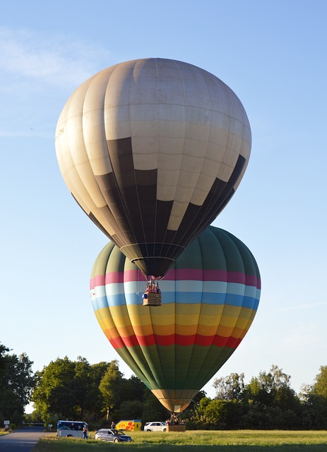
[[[43,436],[42,427],[24,427],[0,436],[0,452],[30,452]]]

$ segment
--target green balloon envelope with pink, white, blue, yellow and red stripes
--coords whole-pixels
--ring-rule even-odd
[[[167,410],[182,412],[249,330],[261,293],[251,251],[210,226],[161,285],[165,303],[143,307],[143,274],[109,242],[93,266],[97,321],[124,362]]]

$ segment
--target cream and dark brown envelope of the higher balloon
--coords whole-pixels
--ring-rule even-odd
[[[111,66],[85,81],[56,130],[71,194],[144,275],[162,278],[241,181],[251,129],[237,95],[172,59]]]

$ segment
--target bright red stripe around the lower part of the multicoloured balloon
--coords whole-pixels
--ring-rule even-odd
[[[136,347],[140,345],[141,347],[150,347],[150,345],[201,345],[201,347],[209,347],[210,345],[215,345],[216,347],[228,347],[236,348],[241,343],[242,339],[225,338],[220,335],[204,336],[200,334],[194,335],[146,335],[146,336],[136,336],[131,335],[125,338],[115,338],[111,339],[110,343],[117,349],[121,347]]]

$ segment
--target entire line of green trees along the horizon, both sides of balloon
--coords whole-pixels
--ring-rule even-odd
[[[32,372],[27,355],[11,355],[0,344],[0,424],[85,420],[91,429],[121,419],[165,420],[169,412],[136,376],[119,371],[117,360],[89,364],[57,358]],[[326,429],[327,366],[297,394],[290,375],[273,365],[244,382],[244,374],[215,379],[215,398],[200,391],[184,410],[189,429]],[[35,410],[24,414],[30,401]]]

